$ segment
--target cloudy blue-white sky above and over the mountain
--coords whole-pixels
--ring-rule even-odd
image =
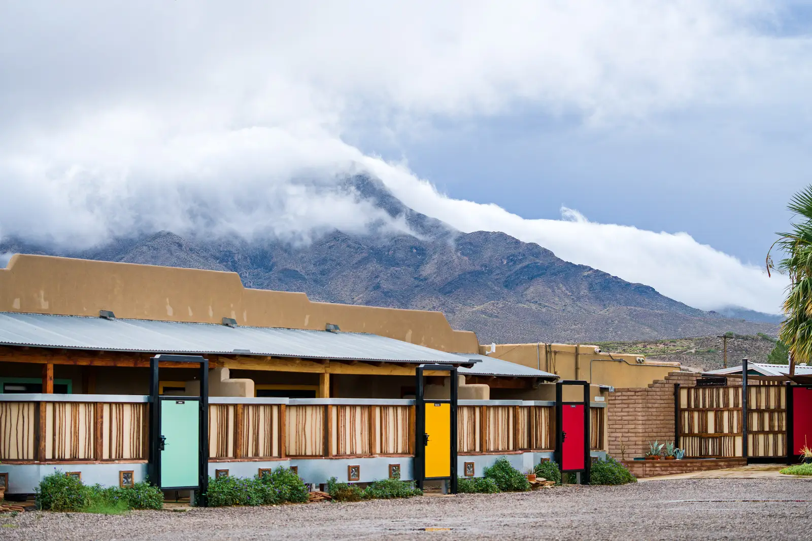
[[[381,211],[777,312],[812,182],[812,3],[3,2],[0,238],[307,243]],[[404,230],[402,221],[391,221]]]

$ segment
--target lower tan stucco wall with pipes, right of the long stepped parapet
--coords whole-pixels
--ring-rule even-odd
[[[679,363],[637,363],[637,355],[595,353],[597,346],[573,344],[497,344],[489,357],[552,372],[563,380],[586,380],[613,387],[647,387],[679,370]],[[486,354],[490,346],[480,346]]]

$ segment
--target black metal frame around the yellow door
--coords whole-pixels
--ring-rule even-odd
[[[430,400],[430,402],[442,402],[451,404],[451,477],[425,477],[425,399],[423,391],[425,385],[423,384],[423,371],[447,371],[451,376],[451,398],[446,400]],[[457,493],[457,369],[447,364],[422,364],[415,369],[415,434],[414,434],[414,462],[413,462],[413,476],[417,487],[423,488],[425,479],[448,479],[448,492],[451,494]]]

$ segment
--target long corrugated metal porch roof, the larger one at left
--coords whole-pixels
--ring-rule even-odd
[[[388,363],[477,363],[477,354],[432,350],[364,333],[208,323],[107,320],[0,312],[0,344],[140,353],[241,354]],[[470,357],[471,359],[467,359]]]

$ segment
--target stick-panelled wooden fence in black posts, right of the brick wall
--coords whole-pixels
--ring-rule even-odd
[[[786,387],[750,385],[747,390],[748,457],[786,457]],[[677,420],[685,457],[742,456],[741,386],[680,387]]]

